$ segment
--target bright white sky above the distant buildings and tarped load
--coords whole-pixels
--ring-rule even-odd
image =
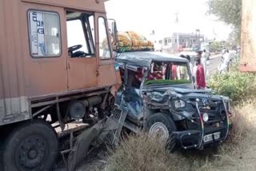
[[[159,38],[174,32],[195,33],[205,38],[226,40],[231,27],[206,15],[207,0],[110,0],[106,3],[108,18],[114,18],[118,31],[134,30],[148,36],[152,30]],[[178,13],[178,23],[175,23]]]

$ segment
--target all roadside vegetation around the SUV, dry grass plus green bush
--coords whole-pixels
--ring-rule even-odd
[[[233,98],[230,137],[218,147],[204,151],[178,149],[166,152],[158,138],[146,133],[131,135],[111,153],[106,170],[256,170],[256,79],[237,65],[228,74],[214,75],[210,86]]]

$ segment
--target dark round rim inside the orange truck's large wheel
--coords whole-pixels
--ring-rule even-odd
[[[15,161],[23,169],[36,169],[43,164],[46,158],[47,145],[42,137],[26,137],[18,145]]]

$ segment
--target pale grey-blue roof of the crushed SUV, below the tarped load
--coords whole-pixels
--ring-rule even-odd
[[[188,62],[187,59],[161,52],[125,52],[118,56],[117,62],[127,63],[133,66],[150,68],[151,62]]]

